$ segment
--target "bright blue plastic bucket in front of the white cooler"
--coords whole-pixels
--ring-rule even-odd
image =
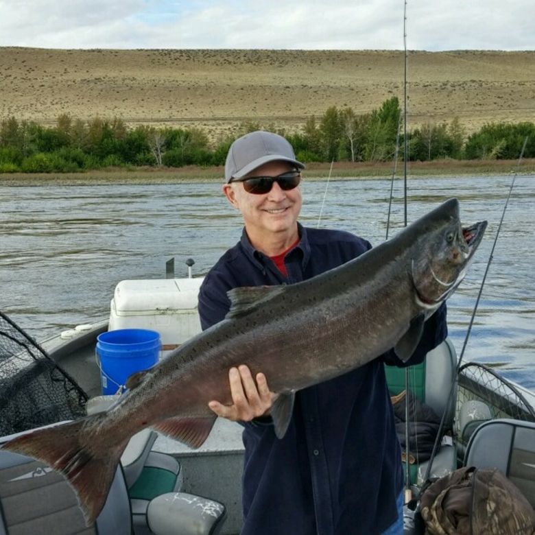
[[[152,368],[158,362],[160,335],[146,329],[117,329],[97,336],[102,394],[123,390],[132,373]]]

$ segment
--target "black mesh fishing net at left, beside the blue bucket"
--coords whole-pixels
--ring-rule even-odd
[[[86,414],[87,395],[0,312],[0,436]]]

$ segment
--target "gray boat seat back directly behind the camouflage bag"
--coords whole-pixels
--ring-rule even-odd
[[[535,422],[499,418],[473,431],[465,466],[498,468],[535,508]]]

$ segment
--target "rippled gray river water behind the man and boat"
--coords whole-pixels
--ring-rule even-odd
[[[409,222],[456,196],[464,223],[488,219],[475,261],[450,298],[457,353],[466,336],[512,176],[409,180]],[[390,180],[302,183],[305,225],[385,239]],[[324,195],[326,192],[326,195]],[[403,226],[403,184],[394,182],[390,236]],[[37,340],[106,318],[117,282],[163,278],[176,259],[204,274],[241,234],[220,185],[3,187],[0,182],[0,309]],[[535,178],[518,176],[464,361],[499,366],[535,390]]]

